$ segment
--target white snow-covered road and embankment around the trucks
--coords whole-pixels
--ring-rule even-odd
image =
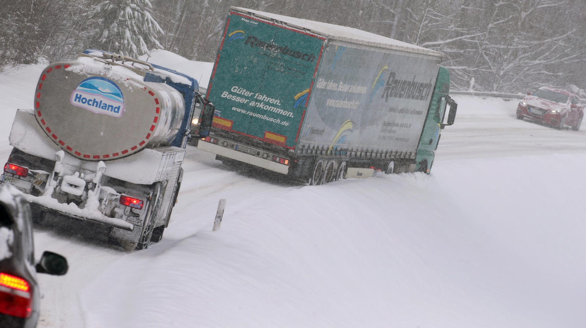
[[[0,75],[20,97],[0,103],[1,158],[35,69]],[[36,231],[37,256],[70,261],[66,276],[39,277],[39,327],[585,327],[586,126],[456,101],[429,176],[292,186],[189,147],[171,223],[148,250]]]

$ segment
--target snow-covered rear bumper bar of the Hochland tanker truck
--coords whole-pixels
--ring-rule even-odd
[[[23,196],[27,201],[30,203],[35,203],[35,205],[42,209],[53,210],[66,216],[75,217],[76,219],[101,223],[103,225],[113,226],[123,230],[132,231],[132,229],[134,229],[134,225],[132,225],[132,223],[128,223],[125,220],[116,219],[115,217],[104,216],[97,210],[80,209],[73,204],[62,204],[57,202],[56,199],[46,196],[33,196],[29,194],[23,194]]]

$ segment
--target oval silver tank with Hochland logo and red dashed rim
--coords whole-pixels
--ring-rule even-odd
[[[148,63],[109,53],[51,64],[39,77],[36,119],[57,146],[86,161],[168,146],[185,102],[169,85],[143,81],[146,72],[156,74]]]

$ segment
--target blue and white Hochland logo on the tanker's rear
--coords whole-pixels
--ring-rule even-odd
[[[120,118],[124,113],[124,97],[114,82],[103,77],[81,81],[71,92],[71,105],[97,114]]]

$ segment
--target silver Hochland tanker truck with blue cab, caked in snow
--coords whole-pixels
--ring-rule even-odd
[[[211,125],[214,106],[198,90],[188,75],[100,50],[50,64],[33,108],[16,111],[0,180],[35,219],[100,223],[127,250],[147,248],[169,225],[186,142]]]

